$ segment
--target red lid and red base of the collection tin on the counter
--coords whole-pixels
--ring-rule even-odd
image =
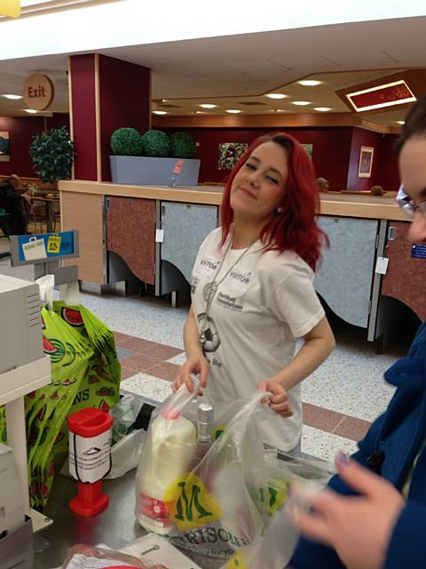
[[[99,437],[113,427],[113,417],[93,407],[73,413],[67,419],[68,429],[83,438]],[[75,457],[75,462],[76,462]],[[106,509],[109,498],[102,493],[102,478],[96,482],[78,482],[78,494],[69,502],[69,508],[80,516],[96,516]]]

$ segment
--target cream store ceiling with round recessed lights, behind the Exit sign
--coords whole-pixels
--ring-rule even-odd
[[[420,68],[426,52],[426,17],[380,20],[317,28],[225,36],[164,44],[134,45],[99,50],[110,57],[153,69],[153,109],[170,116],[347,113],[336,90],[388,76],[401,69]],[[404,41],[400,38],[403,37]],[[49,112],[68,112],[67,54],[0,62],[0,92],[21,93],[26,77],[42,72],[55,85]],[[321,81],[315,87],[297,83],[301,78]],[[271,100],[267,92],[282,92]],[[163,101],[164,100],[164,101]],[[307,100],[297,107],[294,100]],[[205,111],[202,103],[217,104]],[[22,100],[0,97],[0,116],[28,116]],[[275,110],[274,110],[275,109]],[[276,110],[280,109],[280,110]],[[369,115],[368,120],[397,126],[406,110]],[[202,116],[202,115],[201,115]]]

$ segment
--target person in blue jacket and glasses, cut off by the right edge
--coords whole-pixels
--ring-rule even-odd
[[[426,244],[426,97],[406,117],[398,153],[408,238]],[[384,377],[397,390],[358,453],[337,455],[338,474],[312,509],[290,510],[304,534],[291,569],[426,567],[426,323]]]

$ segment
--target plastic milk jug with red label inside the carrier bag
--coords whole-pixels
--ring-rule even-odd
[[[150,428],[142,453],[137,492],[137,516],[140,525],[149,532],[167,535],[174,527],[170,521],[164,493],[172,482],[191,469],[197,442],[197,431],[191,421],[182,417],[176,408],[166,407]]]

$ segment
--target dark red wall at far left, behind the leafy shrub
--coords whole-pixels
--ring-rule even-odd
[[[53,115],[47,119],[47,128],[69,124],[67,115]],[[11,148],[10,162],[0,162],[0,176],[18,174],[28,178],[36,177],[29,156],[29,147],[39,132],[43,131],[43,116],[0,116],[0,131],[9,132]]]

